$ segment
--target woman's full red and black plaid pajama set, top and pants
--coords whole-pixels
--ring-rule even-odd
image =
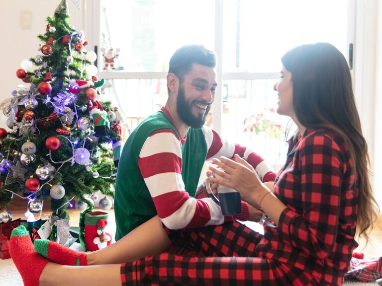
[[[349,270],[358,189],[344,141],[307,129],[289,141],[275,195],[287,206],[264,236],[238,222],[169,231],[193,252],[161,253],[121,266],[123,285],[341,285]],[[176,232],[176,234],[174,234]]]

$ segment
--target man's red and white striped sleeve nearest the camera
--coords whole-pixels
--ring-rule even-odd
[[[197,200],[186,192],[182,179],[182,144],[171,129],[156,131],[146,139],[138,166],[159,218],[168,228],[224,222],[220,207],[210,198]]]

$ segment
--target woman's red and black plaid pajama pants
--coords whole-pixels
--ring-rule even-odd
[[[262,235],[237,221],[166,231],[171,240],[181,243],[164,253],[123,263],[123,286],[319,284],[299,269],[256,257]]]

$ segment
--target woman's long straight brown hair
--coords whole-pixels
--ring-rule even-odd
[[[349,148],[359,189],[357,234],[368,240],[379,208],[370,185],[368,146],[346,59],[333,45],[316,43],[288,51],[282,63],[292,74],[297,120],[304,127],[333,130]]]

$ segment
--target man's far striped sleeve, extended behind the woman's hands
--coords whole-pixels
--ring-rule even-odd
[[[208,148],[206,160],[218,158],[220,156],[233,158],[234,154],[238,154],[252,165],[263,182],[275,181],[276,173],[274,170],[259,154],[254,152],[252,149],[222,140],[214,130],[208,127],[203,126],[203,131]]]

